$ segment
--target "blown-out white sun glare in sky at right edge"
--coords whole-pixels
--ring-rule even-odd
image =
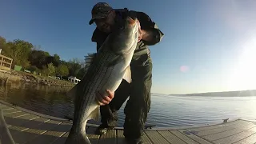
[[[238,58],[238,64],[230,75],[230,88],[256,89],[256,37],[243,43],[241,57]]]

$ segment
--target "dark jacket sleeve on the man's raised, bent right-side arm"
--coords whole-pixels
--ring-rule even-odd
[[[157,24],[151,20],[151,18],[143,13],[143,12],[138,12],[137,18],[141,24],[141,29],[142,30],[150,30],[154,37],[150,42],[143,41],[146,45],[152,46],[160,42],[164,36],[161,30],[159,30]]]

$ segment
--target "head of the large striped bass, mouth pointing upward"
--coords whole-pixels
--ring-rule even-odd
[[[116,54],[134,52],[138,42],[138,19],[129,16],[114,29],[110,37],[110,49]]]

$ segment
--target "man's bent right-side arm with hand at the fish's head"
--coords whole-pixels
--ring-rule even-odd
[[[147,14],[138,12],[138,20],[142,29],[142,41],[146,45],[155,45],[161,41],[164,34]]]

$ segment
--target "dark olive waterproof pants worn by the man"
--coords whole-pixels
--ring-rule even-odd
[[[130,96],[124,113],[124,135],[126,138],[140,138],[147,114],[150,111],[150,89],[152,86],[152,61],[145,54],[130,63],[132,82],[122,80],[109,105],[101,106],[102,124],[116,126],[117,111]]]

